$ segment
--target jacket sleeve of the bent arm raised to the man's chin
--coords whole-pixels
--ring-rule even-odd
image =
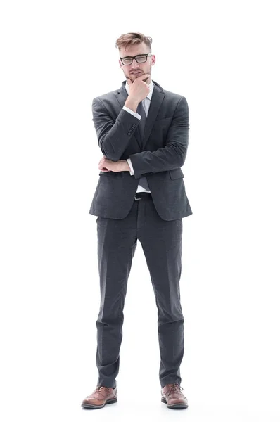
[[[103,155],[109,160],[120,160],[129,141],[132,139],[132,134],[134,134],[136,127],[139,125],[139,118],[122,108],[115,120],[108,112],[101,98],[98,97],[92,101],[92,115],[98,146],[101,148]]]

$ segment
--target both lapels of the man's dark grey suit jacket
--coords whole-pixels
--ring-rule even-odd
[[[120,110],[122,109],[123,106],[125,106],[125,101],[127,101],[127,96],[128,96],[127,90],[125,89],[125,82],[126,81],[122,82],[122,86],[117,91],[117,101],[120,103]],[[150,108],[148,109],[148,116],[147,116],[145,129],[144,129],[144,139],[141,139],[138,127],[137,127],[137,130],[134,132],[136,141],[141,151],[144,151],[144,148],[148,141],[148,137],[151,134],[151,130],[153,129],[153,124],[158,115],[158,111],[160,110],[160,106],[161,106],[161,103],[163,102],[164,97],[165,97],[165,94],[163,93],[163,88],[160,87],[160,85],[157,84],[157,82],[153,81],[153,94],[151,96]]]

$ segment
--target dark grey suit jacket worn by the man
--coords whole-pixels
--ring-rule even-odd
[[[127,217],[134,203],[139,178],[146,176],[158,215],[165,220],[192,214],[184,186],[184,165],[189,143],[189,107],[184,96],[166,91],[153,81],[153,95],[144,139],[140,120],[122,107],[120,89],[94,98],[92,113],[98,146],[113,161],[130,158],[134,176],[127,172],[100,172],[89,214],[112,219]]]

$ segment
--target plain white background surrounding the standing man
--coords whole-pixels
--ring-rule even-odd
[[[277,1],[1,3],[1,411],[15,421],[279,421]],[[186,96],[181,366],[160,402],[157,309],[138,243],[118,403],[96,387],[98,181],[91,103],[125,80],[115,41],[153,38],[152,78]],[[96,413],[97,412],[97,413]],[[172,419],[172,420],[173,420]]]

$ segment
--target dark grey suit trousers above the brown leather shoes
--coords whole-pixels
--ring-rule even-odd
[[[97,217],[101,302],[96,321],[97,385],[115,388],[120,366],[123,309],[132,258],[140,241],[158,307],[160,385],[181,383],[184,317],[179,280],[182,268],[182,219],[163,220],[151,193],[137,193],[124,219]]]

